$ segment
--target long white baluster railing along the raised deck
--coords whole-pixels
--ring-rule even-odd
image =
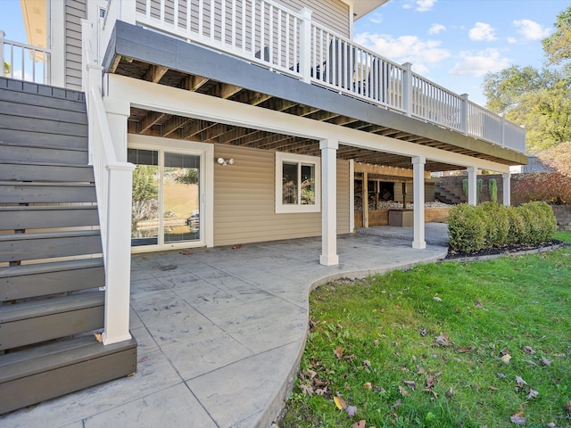
[[[269,70],[525,152],[525,129],[272,0],[110,0],[120,19],[236,55]],[[106,46],[106,40],[101,43]]]

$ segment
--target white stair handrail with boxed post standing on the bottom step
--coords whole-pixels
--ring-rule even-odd
[[[105,266],[105,326],[103,344],[130,339],[130,223],[132,173],[135,166],[118,161],[112,132],[103,105],[103,67],[95,64],[91,45],[95,31],[82,21],[83,86],[87,98],[89,161],[95,175],[97,210]],[[120,144],[119,144],[120,145]]]

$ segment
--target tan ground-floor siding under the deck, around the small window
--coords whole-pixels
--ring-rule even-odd
[[[321,213],[276,214],[274,152],[215,145],[214,245],[256,243],[321,235]],[[349,232],[349,162],[337,161],[338,233]]]

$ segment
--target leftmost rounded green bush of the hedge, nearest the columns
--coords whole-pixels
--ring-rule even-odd
[[[478,251],[485,247],[485,221],[476,207],[461,203],[448,214],[450,246],[455,251]]]

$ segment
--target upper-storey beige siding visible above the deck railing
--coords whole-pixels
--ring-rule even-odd
[[[349,5],[341,0],[278,0],[277,3],[299,12],[303,7],[310,9],[311,18],[343,37],[351,37]]]

